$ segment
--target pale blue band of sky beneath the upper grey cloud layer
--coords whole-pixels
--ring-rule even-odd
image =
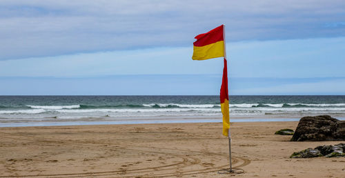
[[[345,77],[345,37],[226,44],[231,77]],[[193,47],[150,48],[0,61],[0,77],[221,74],[222,59],[193,61]]]

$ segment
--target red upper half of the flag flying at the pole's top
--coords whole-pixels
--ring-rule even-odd
[[[197,37],[195,37],[197,41],[193,43],[194,46],[206,46],[217,41],[224,41],[223,29],[224,25],[221,25],[209,32],[197,35]]]

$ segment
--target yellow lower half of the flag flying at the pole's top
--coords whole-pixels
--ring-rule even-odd
[[[206,46],[194,46],[193,49],[193,60],[224,57],[224,41],[217,41]]]

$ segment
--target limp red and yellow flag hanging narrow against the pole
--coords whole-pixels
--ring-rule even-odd
[[[221,113],[223,113],[223,135],[228,137],[228,131],[230,128],[230,116],[229,116],[229,94],[228,94],[228,67],[226,59],[224,58],[223,79],[221,81],[220,88],[220,106]]]

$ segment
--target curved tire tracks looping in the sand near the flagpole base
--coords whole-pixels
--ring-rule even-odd
[[[12,135],[14,137],[6,137],[2,135],[2,137],[10,138],[10,139],[22,139],[19,137],[24,137],[23,139],[28,140],[34,139],[35,141],[41,142],[48,142],[48,143],[61,143],[60,139],[46,139],[44,137],[34,137],[28,135],[20,135],[20,134],[10,134],[6,132],[1,132],[6,135]],[[1,137],[1,136],[0,136]],[[84,143],[75,143],[73,146],[99,146],[99,144],[84,144]],[[223,169],[228,167],[228,164],[224,164],[221,166],[215,166],[212,168],[203,168],[202,161],[195,156],[203,155],[203,157],[228,157],[227,154],[218,153],[218,152],[206,152],[206,151],[197,151],[197,150],[182,150],[182,149],[173,149],[173,148],[158,148],[158,147],[150,147],[150,146],[133,146],[133,145],[123,145],[125,147],[120,147],[122,150],[130,150],[130,151],[137,151],[137,152],[152,152],[159,155],[171,155],[175,157],[180,157],[182,161],[179,161],[175,164],[169,164],[164,166],[154,166],[148,168],[135,168],[135,169],[126,169],[126,170],[114,170],[114,171],[103,171],[103,172],[80,172],[80,173],[67,173],[67,174],[46,174],[46,175],[14,175],[14,176],[0,176],[0,177],[176,177],[176,176],[183,176],[183,175],[197,175],[202,173],[208,172],[215,172],[217,170]],[[128,148],[134,147],[134,148]],[[108,149],[112,148],[111,146]],[[135,149],[135,148],[141,148]],[[143,148],[146,148],[143,150]],[[164,150],[164,151],[162,151]],[[167,152],[168,151],[168,152]],[[170,152],[169,152],[170,151]],[[199,154],[199,155],[196,155]],[[186,156],[188,154],[188,156]],[[192,156],[190,156],[192,155]],[[237,165],[237,163],[241,163]],[[232,157],[232,164],[233,168],[242,168],[248,164],[250,164],[250,160],[244,159],[242,157]],[[183,170],[184,168],[188,168],[188,166],[198,166],[198,168],[193,168],[192,170]],[[201,168],[200,168],[201,167]],[[153,172],[153,173],[152,173]],[[149,175],[142,175],[143,173],[150,173]]]

